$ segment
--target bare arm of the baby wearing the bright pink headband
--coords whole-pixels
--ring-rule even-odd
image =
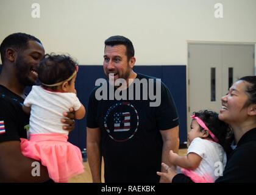
[[[187,154],[184,157],[180,157],[178,154],[170,151],[169,161],[172,165],[180,166],[185,169],[196,169],[201,163],[202,157],[194,152]]]

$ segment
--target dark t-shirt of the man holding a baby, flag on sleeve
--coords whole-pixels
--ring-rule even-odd
[[[24,99],[0,85],[0,142],[27,138],[29,115],[23,112]]]

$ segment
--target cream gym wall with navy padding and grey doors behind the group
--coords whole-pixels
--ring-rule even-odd
[[[135,71],[162,79],[171,91],[185,145],[191,113],[218,112],[230,83],[255,74],[255,8],[255,0],[1,0],[0,41],[25,32],[46,53],[73,56],[77,94],[87,106],[95,80],[105,78],[104,40],[124,35],[135,48]],[[69,135],[81,150],[85,127],[85,119],[77,121]]]

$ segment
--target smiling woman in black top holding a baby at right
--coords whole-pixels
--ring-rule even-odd
[[[255,182],[256,174],[256,76],[246,76],[222,97],[219,119],[232,127],[233,151],[223,176],[215,182]],[[165,176],[173,183],[192,182],[190,177],[169,169]]]

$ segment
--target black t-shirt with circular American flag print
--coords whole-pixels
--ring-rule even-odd
[[[137,74],[137,79],[149,83],[154,81],[154,94],[157,91],[156,79]],[[150,80],[150,81],[149,81]],[[107,93],[109,93],[108,82]],[[133,85],[133,96],[129,89]],[[146,85],[144,85],[146,86]],[[151,107],[149,97],[143,100],[145,87],[135,87],[133,82],[126,91],[128,100],[97,100],[99,87],[90,95],[87,127],[101,129],[101,151],[104,157],[105,182],[158,182],[156,172],[161,169],[162,137],[160,130],[179,125],[176,105],[168,88],[160,82],[161,104]],[[115,89],[115,93],[116,90]],[[106,92],[106,91],[105,91]],[[123,92],[123,91],[122,91]],[[151,91],[152,92],[152,91]],[[136,100],[140,94],[141,100]],[[122,93],[123,94],[123,93]],[[149,94],[149,88],[148,88]],[[159,95],[159,94],[158,94]],[[133,98],[129,98],[133,97]],[[151,96],[151,99],[152,98]]]

